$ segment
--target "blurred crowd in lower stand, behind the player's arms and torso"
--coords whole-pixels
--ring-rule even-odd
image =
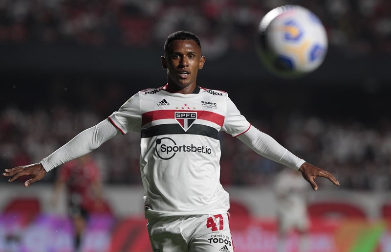
[[[98,102],[97,98],[95,103]],[[15,167],[39,162],[106,116],[86,106],[72,108],[66,104],[52,108],[35,107],[32,110],[11,105],[2,108],[0,166]],[[342,187],[390,189],[391,121],[385,120],[374,128],[358,121],[339,122],[326,121],[321,117],[292,116],[281,129],[268,120],[248,119],[296,155],[335,174]],[[225,133],[220,133],[219,138],[223,184],[267,186],[282,169],[280,164],[258,156],[236,138]],[[141,183],[139,141],[137,134],[115,137],[93,152],[104,183]],[[48,173],[44,180],[53,182],[57,170]],[[319,180],[318,183],[323,181]]]

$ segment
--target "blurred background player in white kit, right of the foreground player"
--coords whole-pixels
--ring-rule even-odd
[[[308,251],[307,232],[310,221],[307,213],[308,183],[299,171],[284,169],[276,176],[274,193],[277,203],[278,244],[277,252],[286,252],[287,238],[291,231],[299,233],[299,252]]]

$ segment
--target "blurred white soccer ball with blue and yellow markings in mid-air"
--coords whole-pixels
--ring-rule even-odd
[[[326,57],[327,35],[320,19],[299,5],[284,5],[261,20],[257,51],[263,65],[279,77],[317,69]]]

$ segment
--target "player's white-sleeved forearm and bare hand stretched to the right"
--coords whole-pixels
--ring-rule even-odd
[[[239,135],[238,138],[262,157],[301,171],[304,179],[311,184],[315,191],[318,190],[318,185],[314,181],[316,177],[324,177],[333,184],[339,185],[339,182],[331,173],[299,159],[274,138],[253,126],[250,126],[248,131]]]

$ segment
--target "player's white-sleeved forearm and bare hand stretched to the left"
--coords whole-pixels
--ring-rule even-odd
[[[112,137],[121,134],[108,119],[81,132],[64,146],[50,154],[40,163],[18,166],[12,169],[5,169],[3,176],[11,177],[8,181],[13,182],[21,176],[30,176],[31,179],[24,183],[24,186],[41,180],[46,172],[67,161],[77,159],[98,148],[101,144]]]

